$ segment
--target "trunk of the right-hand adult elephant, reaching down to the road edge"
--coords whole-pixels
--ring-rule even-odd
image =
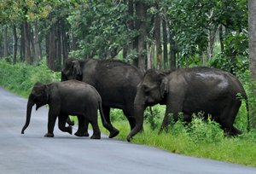
[[[128,142],[131,141],[131,136],[135,136],[139,131],[143,130],[143,115],[144,115],[144,105],[137,105],[134,106],[134,113],[135,113],[135,118],[136,118],[136,125],[135,127],[131,130],[129,135],[126,137],[126,140]]]

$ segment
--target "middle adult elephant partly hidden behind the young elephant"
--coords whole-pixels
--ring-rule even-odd
[[[61,72],[61,81],[79,79],[94,86],[102,96],[103,113],[113,129],[110,138],[119,134],[110,122],[110,107],[122,109],[131,129],[134,128],[133,102],[137,84],[142,78],[143,73],[137,67],[114,60],[68,59]],[[85,124],[85,130],[88,130],[88,123]],[[89,135],[87,131],[86,134]]]

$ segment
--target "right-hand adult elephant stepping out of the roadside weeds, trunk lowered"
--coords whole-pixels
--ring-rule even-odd
[[[193,113],[210,114],[221,128],[230,136],[241,134],[233,125],[241,106],[241,98],[247,94],[241,82],[231,73],[211,67],[180,68],[163,73],[149,69],[137,85],[134,101],[136,126],[126,140],[131,141],[143,128],[143,112],[148,106],[166,105],[166,113],[160,131],[166,129],[169,114],[177,121],[178,113],[189,122]],[[248,112],[247,112],[248,114]]]

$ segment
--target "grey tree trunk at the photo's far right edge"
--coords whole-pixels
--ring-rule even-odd
[[[250,76],[252,78],[252,86],[254,96],[254,103],[251,104],[251,123],[253,128],[256,128],[256,107],[255,98],[256,98],[256,1],[248,0],[248,35],[249,35],[249,70]]]

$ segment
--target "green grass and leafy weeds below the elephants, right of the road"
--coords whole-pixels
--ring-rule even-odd
[[[161,109],[163,107],[154,107],[154,110]],[[116,110],[113,109],[112,114],[122,119],[118,121],[116,119],[112,123],[120,131],[117,138],[125,141],[130,132],[130,125],[126,119],[123,119],[123,115],[119,115],[119,111],[117,112],[118,115],[116,114]],[[160,123],[161,120],[162,117],[155,121]],[[109,134],[102,125],[101,130],[107,135]],[[224,131],[218,123],[212,119],[207,119],[207,121],[201,119],[200,115],[196,115],[189,124],[182,120],[173,122],[167,131],[160,134],[159,129],[152,129],[152,123],[149,123],[148,118],[146,118],[143,131],[133,136],[131,142],[161,148],[176,154],[256,166],[256,131],[245,131],[238,137],[224,136]]]

